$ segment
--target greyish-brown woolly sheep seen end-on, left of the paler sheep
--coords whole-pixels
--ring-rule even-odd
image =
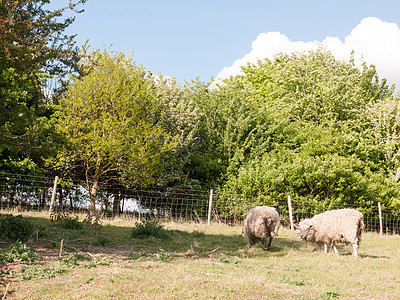
[[[263,250],[267,251],[271,247],[272,239],[278,235],[279,226],[280,218],[275,208],[257,206],[252,208],[244,219],[244,237],[250,245],[261,241]]]

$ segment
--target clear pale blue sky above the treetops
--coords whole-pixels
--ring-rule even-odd
[[[67,3],[67,0],[57,0],[52,6]],[[132,51],[137,64],[180,82],[195,77],[209,81],[212,76],[234,75],[238,70],[233,67],[235,61],[240,65],[246,55],[254,59],[255,53],[271,56],[273,50],[267,49],[271,45],[278,50],[296,49],[297,45],[302,49],[304,43],[322,42],[327,37],[346,44],[346,37],[367,17],[378,19],[365,22],[368,24],[359,30],[362,33],[350,43],[352,47],[360,35],[368,39],[369,30],[382,25],[379,30],[385,31],[384,25],[392,23],[397,29],[400,26],[398,0],[87,0],[82,7],[85,12],[76,15],[67,31],[77,34],[79,45],[89,40],[96,49],[112,44],[114,50]],[[400,41],[400,30],[397,37],[395,27],[389,30],[395,38],[388,39],[396,43],[387,48],[396,48],[397,39]],[[272,32],[274,37],[267,35]],[[383,35],[380,31],[376,34]],[[282,37],[289,41],[277,47],[274,43],[280,43]],[[258,43],[254,43],[256,40]],[[372,40],[370,44],[384,42]],[[400,44],[397,50],[400,70]],[[386,60],[396,55],[394,52],[386,53]],[[370,56],[368,59],[375,60],[374,55]],[[224,68],[225,75],[221,72]],[[391,76],[387,72],[396,72],[378,68],[379,71],[385,78]],[[400,74],[396,76],[391,81],[399,81],[396,85],[400,85]]]

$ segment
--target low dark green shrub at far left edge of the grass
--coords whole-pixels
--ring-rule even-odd
[[[13,242],[25,243],[32,235],[33,224],[22,216],[0,215],[0,236]]]

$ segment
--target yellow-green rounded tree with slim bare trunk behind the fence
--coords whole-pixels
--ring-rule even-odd
[[[107,181],[150,184],[161,155],[173,149],[175,141],[157,124],[152,74],[122,52],[92,56],[90,73],[74,78],[61,100],[57,130],[67,146],[56,163],[85,174],[94,212],[97,190]]]

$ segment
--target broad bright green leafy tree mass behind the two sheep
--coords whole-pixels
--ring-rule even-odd
[[[219,147],[230,145],[221,149],[227,155],[227,193],[270,199],[290,194],[319,208],[390,205],[399,198],[372,125],[384,109],[371,111],[384,106],[393,89],[373,66],[358,69],[318,49],[281,54],[243,72],[213,91],[209,105],[208,117],[220,120],[215,126],[208,122],[211,138]],[[391,131],[385,129],[387,138]],[[387,139],[385,149],[394,140]]]

